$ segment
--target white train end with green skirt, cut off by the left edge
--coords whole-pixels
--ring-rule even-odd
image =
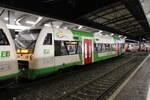
[[[15,46],[10,32],[0,24],[0,80],[15,78],[18,73],[18,64]]]

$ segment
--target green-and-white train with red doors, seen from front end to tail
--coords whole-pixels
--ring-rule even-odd
[[[29,79],[125,52],[125,40],[119,37],[53,27],[22,31],[16,41],[19,70]]]

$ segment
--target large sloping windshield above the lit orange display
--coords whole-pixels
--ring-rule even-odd
[[[41,29],[24,30],[15,39],[17,49],[34,49]]]

